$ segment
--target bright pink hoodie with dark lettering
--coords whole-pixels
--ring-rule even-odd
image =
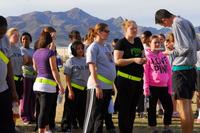
[[[150,49],[145,51],[147,58],[144,64],[144,95],[149,96],[149,86],[168,87],[172,94],[172,70],[168,58],[162,53],[153,53]]]

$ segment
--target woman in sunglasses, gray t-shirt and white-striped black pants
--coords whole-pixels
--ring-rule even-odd
[[[103,119],[108,111],[113,82],[116,76],[112,47],[105,41],[109,36],[105,23],[94,26],[94,41],[86,51],[86,63],[90,76],[87,83],[87,103],[83,133],[102,133]]]

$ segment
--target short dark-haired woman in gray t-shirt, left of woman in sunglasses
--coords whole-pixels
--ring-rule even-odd
[[[87,98],[87,80],[89,69],[84,57],[84,44],[74,41],[71,45],[72,57],[64,65],[66,78],[66,94],[61,128],[64,132],[71,132],[73,116],[77,116],[79,127],[83,129],[85,105]]]

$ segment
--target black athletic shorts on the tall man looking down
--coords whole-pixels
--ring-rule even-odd
[[[175,71],[172,79],[175,99],[192,99],[195,91],[196,70]]]

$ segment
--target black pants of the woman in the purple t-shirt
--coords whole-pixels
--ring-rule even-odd
[[[50,110],[52,109],[54,93],[47,93],[47,92],[35,92],[35,93],[36,93],[36,99],[39,102],[37,125],[39,128],[45,128],[45,126],[49,125],[50,123],[49,115],[50,115]]]

